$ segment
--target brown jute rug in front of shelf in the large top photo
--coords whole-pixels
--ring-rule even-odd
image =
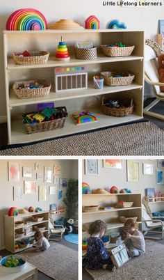
[[[0,155],[164,155],[164,132],[141,122],[29,145],[1,148]]]

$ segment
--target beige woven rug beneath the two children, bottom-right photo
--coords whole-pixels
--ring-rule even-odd
[[[146,253],[129,260],[115,272],[87,270],[94,280],[162,280],[164,279],[164,245],[146,240]]]

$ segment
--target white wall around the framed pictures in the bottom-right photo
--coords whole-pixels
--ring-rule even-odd
[[[156,169],[157,160],[134,160],[139,162],[140,168],[140,182],[127,182],[126,180],[126,160],[122,160],[122,169],[107,169],[103,167],[103,161],[99,160],[99,175],[90,176],[84,173],[84,161],[83,161],[83,182],[87,182],[91,189],[98,188],[110,188],[116,186],[119,190],[123,188],[131,189],[131,192],[141,193],[142,197],[145,196],[145,189],[148,187],[154,187],[156,191],[164,193],[164,185],[156,184]],[[144,162],[154,164],[154,176],[144,175],[142,173],[142,164]],[[164,171],[164,169],[163,169]],[[164,210],[163,203],[151,203],[151,210],[158,211]]]

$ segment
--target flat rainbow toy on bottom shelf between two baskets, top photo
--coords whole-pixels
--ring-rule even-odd
[[[90,111],[75,112],[71,116],[76,125],[81,125],[84,123],[92,123],[97,121],[97,118]]]

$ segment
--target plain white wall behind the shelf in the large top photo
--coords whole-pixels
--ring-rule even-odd
[[[150,1],[155,2],[155,0]],[[163,2],[163,0],[161,1]],[[102,6],[102,3],[103,1],[100,0],[28,0],[27,2],[22,0],[1,0],[0,31],[6,29],[6,21],[13,11],[19,8],[31,7],[40,10],[40,12],[42,12],[47,18],[49,23],[56,22],[62,18],[67,18],[84,25],[86,17],[89,15],[96,15],[101,22],[101,28],[105,28],[108,21],[119,19],[121,22],[126,22],[126,25],[129,29],[145,29],[146,38],[155,38],[156,33],[158,32],[158,20],[163,19],[164,6],[150,6],[147,8],[121,8],[120,6]],[[2,33],[0,33],[0,58],[3,56],[2,48],[3,40]],[[0,60],[1,120],[1,116],[6,115],[6,99],[4,93],[3,60]]]

